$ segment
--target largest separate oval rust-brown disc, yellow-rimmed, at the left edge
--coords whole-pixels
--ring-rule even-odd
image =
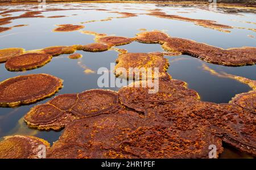
[[[0,83],[0,106],[16,107],[55,94],[62,80],[49,74],[15,76]]]

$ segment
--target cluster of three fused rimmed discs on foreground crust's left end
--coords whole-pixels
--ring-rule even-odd
[[[114,113],[118,110],[116,92],[89,90],[80,94],[59,95],[46,104],[36,105],[26,114],[24,120],[32,128],[60,130],[75,119]]]

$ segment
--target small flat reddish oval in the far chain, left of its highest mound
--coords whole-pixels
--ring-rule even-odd
[[[133,39],[127,38],[127,37],[115,37],[115,36],[107,36],[107,37],[101,37],[97,39],[98,42],[104,42],[104,43],[112,43],[114,45],[125,45],[129,44],[133,41]]]

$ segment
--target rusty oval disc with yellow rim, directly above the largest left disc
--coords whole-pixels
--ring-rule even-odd
[[[25,71],[36,69],[46,65],[51,61],[52,56],[43,53],[26,53],[20,56],[10,58],[6,63],[5,67],[9,71]]]

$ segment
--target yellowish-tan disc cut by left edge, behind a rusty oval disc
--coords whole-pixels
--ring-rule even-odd
[[[23,48],[5,48],[0,49],[0,63],[5,62],[8,59],[19,56],[20,54],[24,53]]]

